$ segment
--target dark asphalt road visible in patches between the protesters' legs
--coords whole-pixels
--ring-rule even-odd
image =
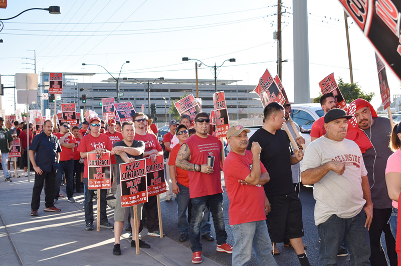
[[[224,178],[222,172],[222,184],[224,186]],[[223,193],[224,198],[224,220],[226,224],[226,231],[228,234],[227,242],[230,244],[234,244],[234,237],[233,231],[231,226],[229,225],[229,200],[227,197],[227,193]],[[319,236],[317,232],[317,226],[314,224],[314,205],[315,200],[313,199],[313,188],[308,186],[302,186],[300,190],[300,196],[302,202],[302,217],[303,217],[303,226],[304,226],[304,233],[305,236],[303,237],[304,244],[307,245],[306,254],[309,258],[309,262],[311,265],[318,264],[319,258]],[[186,242],[179,242],[179,231],[177,228],[177,204],[174,198],[171,201],[164,200],[164,194],[160,195],[160,204],[161,204],[161,211],[162,211],[162,223],[163,223],[163,232],[166,234],[167,237],[170,239],[177,241],[178,243],[190,248],[191,244],[190,241]],[[110,207],[114,207],[115,200],[109,200],[108,205]],[[216,236],[213,220],[211,217],[211,224],[212,229],[211,233],[213,236]],[[207,241],[205,239],[201,239],[201,243],[203,244],[203,251],[202,255],[222,264],[222,265],[231,265],[232,255],[227,253],[221,253],[216,251],[216,242],[215,241]],[[382,244],[383,248],[385,249],[385,242],[384,237],[382,236]],[[296,253],[292,247],[284,247],[283,243],[278,243],[277,247],[279,248],[281,254],[276,255],[275,259],[278,265],[300,265],[299,260],[296,256]],[[172,256],[174,254],[171,254]],[[337,263],[339,266],[346,266],[350,265],[349,257],[337,257]],[[248,265],[259,265],[255,254],[252,254],[252,259]]]

